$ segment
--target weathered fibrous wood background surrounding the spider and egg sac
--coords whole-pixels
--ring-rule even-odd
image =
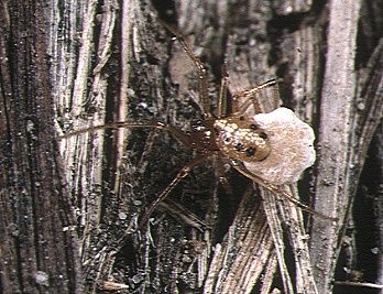
[[[363,293],[382,284],[383,263],[361,258],[383,252],[376,1],[3,1],[0,13],[4,293],[83,293],[79,281],[85,293]],[[283,189],[338,221],[229,166],[228,193],[206,161],[142,229],[145,209],[195,152],[151,129],[59,139],[110,121],[187,130],[200,118],[196,68],[162,22],[206,64],[212,110],[223,64],[230,94],[280,78],[281,102],[317,134],[315,166]],[[270,94],[260,98],[270,111]],[[375,217],[363,210],[369,199]]]

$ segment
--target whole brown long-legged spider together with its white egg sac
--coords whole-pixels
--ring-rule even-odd
[[[88,131],[119,128],[151,128],[169,132],[177,141],[197,152],[197,156],[178,172],[167,187],[156,197],[140,221],[145,227],[152,213],[163,202],[174,187],[185,178],[190,171],[207,159],[215,159],[219,179],[228,187],[225,176],[225,163],[242,175],[252,179],[267,190],[282,195],[302,209],[324,219],[336,220],[302,204],[291,194],[282,189],[285,184],[296,183],[300,174],[315,162],[315,140],[313,129],[299,120],[292,110],[278,107],[277,80],[270,79],[255,88],[232,95],[232,111],[227,113],[229,75],[222,70],[223,78],[218,97],[217,113],[210,112],[208,99],[208,76],[203,62],[194,54],[184,36],[174,28],[163,24],[178,40],[184,52],[198,72],[198,99],[201,105],[201,119],[190,122],[189,132],[172,124],[154,121],[134,123],[128,121],[110,122],[95,126],[68,134],[65,139]],[[274,111],[262,113],[258,94],[265,88],[273,88]],[[249,108],[254,108],[254,116],[249,116]],[[288,141],[288,142],[286,142]]]

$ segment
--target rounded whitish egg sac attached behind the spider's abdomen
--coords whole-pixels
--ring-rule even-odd
[[[314,131],[284,107],[253,117],[267,133],[271,152],[260,162],[243,162],[253,174],[274,185],[292,184],[316,159]]]

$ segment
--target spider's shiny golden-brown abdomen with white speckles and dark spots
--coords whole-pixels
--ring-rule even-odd
[[[216,120],[217,146],[229,159],[259,162],[267,157],[270,144],[266,132],[245,117]]]

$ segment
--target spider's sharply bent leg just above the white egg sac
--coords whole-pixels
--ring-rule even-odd
[[[233,111],[239,112],[239,113],[244,113],[249,109],[250,106],[253,106],[255,113],[263,112],[261,104],[256,99],[256,94],[265,88],[274,87],[276,85],[276,83],[277,83],[276,79],[273,78],[273,79],[270,79],[270,80],[261,84],[260,86],[258,86],[253,89],[236,92],[233,95]],[[245,100],[241,105],[239,105],[240,99],[245,99]],[[275,108],[277,108],[278,102],[280,102],[280,98],[278,98],[278,91],[275,87],[273,90],[273,100],[274,100]]]

